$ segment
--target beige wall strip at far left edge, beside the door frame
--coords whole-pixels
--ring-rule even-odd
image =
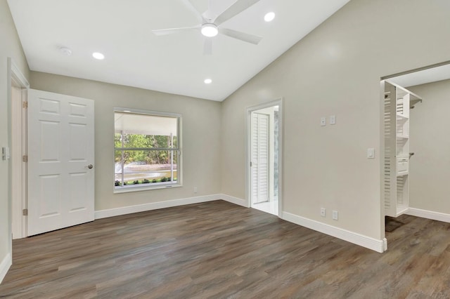
[[[8,58],[29,76],[29,69],[6,0],[0,0],[0,147],[11,146]],[[11,253],[10,161],[0,159],[0,263]]]

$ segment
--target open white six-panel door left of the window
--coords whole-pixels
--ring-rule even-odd
[[[94,220],[94,101],[28,92],[27,235]]]

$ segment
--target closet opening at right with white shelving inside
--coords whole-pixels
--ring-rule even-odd
[[[385,236],[416,217],[450,222],[450,61],[383,77],[381,100]]]

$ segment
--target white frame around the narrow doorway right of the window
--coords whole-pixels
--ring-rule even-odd
[[[264,102],[259,105],[245,108],[245,197],[247,207],[252,206],[251,202],[251,175],[250,161],[251,161],[251,124],[252,112],[269,108],[278,105],[278,217],[283,215],[283,98],[273,100],[271,102]]]

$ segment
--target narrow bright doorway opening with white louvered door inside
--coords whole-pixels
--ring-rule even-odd
[[[251,208],[281,213],[281,100],[248,108],[248,200]]]

